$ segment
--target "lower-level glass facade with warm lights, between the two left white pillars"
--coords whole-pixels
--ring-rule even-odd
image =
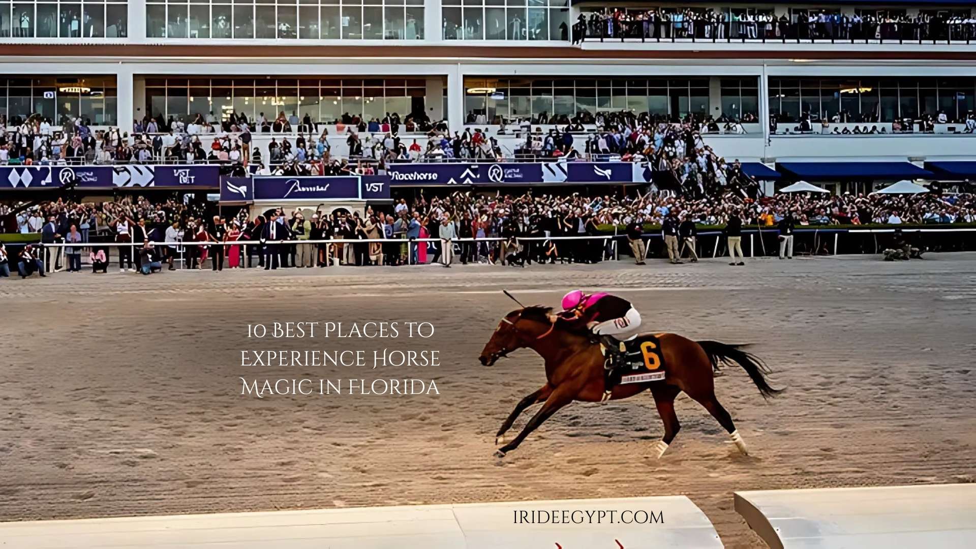
[[[405,79],[146,78],[145,111],[157,120],[192,119],[213,112],[226,120],[244,113],[273,120],[279,113],[335,122],[344,114],[366,120],[424,110],[427,82]]]

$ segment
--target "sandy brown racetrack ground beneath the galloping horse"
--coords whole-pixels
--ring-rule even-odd
[[[639,268],[490,266],[0,280],[0,519],[687,494],[727,547],[762,542],[739,489],[973,482],[976,255]],[[649,457],[649,395],[574,403],[492,457],[544,382],[521,351],[477,356],[512,309],[572,286],[629,297],[645,324],[755,343],[788,391],[716,379],[753,455],[694,401]],[[430,321],[428,340],[247,340],[248,322]],[[242,349],[439,350],[438,367],[242,367]],[[440,396],[242,397],[238,376],[434,379]],[[528,416],[515,428],[520,429]]]

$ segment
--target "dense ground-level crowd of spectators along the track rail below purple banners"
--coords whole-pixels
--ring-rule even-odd
[[[793,193],[756,198],[737,192],[696,197],[650,191],[621,196],[456,191],[430,197],[422,193],[413,200],[400,198],[383,210],[370,207],[364,215],[346,210],[278,208],[250,220],[245,210],[229,218],[213,213],[202,202],[169,199],[153,203],[143,197],[86,203],[59,199],[25,208],[0,206],[0,218],[12,221],[17,232],[41,234],[40,249],[29,249],[27,253],[33,255],[26,260],[26,265],[40,266],[36,270],[41,273],[43,266],[32,263],[32,259],[50,263],[55,269],[61,267],[61,256],[43,246],[54,242],[78,244],[65,250],[68,271],[79,271],[81,254],[87,252],[93,269],[101,272],[117,259],[122,271],[151,273],[153,267],[146,270],[145,265],[161,268],[168,262],[173,268],[173,261],[178,260],[184,267],[202,269],[208,258],[215,271],[223,270],[224,265],[231,269],[270,269],[449,264],[455,249],[463,263],[596,263],[613,253],[611,240],[601,236],[623,234],[624,228],[638,233],[660,231],[653,226],[677,231],[679,223],[686,232],[733,223],[774,228],[784,219],[799,227],[976,223],[976,196],[938,191],[915,195]],[[273,231],[269,230],[271,223],[277,224]],[[557,238],[561,236],[593,238]],[[400,241],[304,242],[379,238]],[[412,241],[424,238],[432,240]],[[261,243],[233,243],[239,240]],[[153,241],[165,245],[156,248]],[[131,246],[100,245],[106,242]],[[183,245],[189,242],[196,244]],[[25,269],[31,271],[30,267]]]

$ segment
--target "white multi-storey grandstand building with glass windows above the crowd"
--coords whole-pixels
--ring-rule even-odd
[[[0,0],[0,115],[132,132],[146,116],[307,114],[341,151],[344,114],[396,112],[489,128],[510,151],[525,121],[629,110],[727,119],[706,144],[794,180],[843,180],[866,161],[890,163],[864,178],[911,178],[910,163],[976,177],[950,164],[976,154],[974,0],[610,6]]]

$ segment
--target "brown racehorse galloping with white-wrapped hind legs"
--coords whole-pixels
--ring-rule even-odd
[[[780,392],[766,382],[769,369],[760,359],[742,351],[741,345],[692,341],[672,333],[657,336],[661,344],[659,352],[663,358],[665,379],[617,385],[610,394],[610,400],[628,399],[650,389],[665,424],[664,438],[655,443],[657,457],[664,455],[681,427],[674,414],[674,398],[682,391],[705,406],[729,433],[739,450],[747,454],[746,443],[736,431],[732,417],[715,399],[714,372],[718,371],[721,362],[738,363],[752,378],[763,398],[768,398]],[[495,452],[498,457],[504,457],[518,447],[529,433],[566,404],[604,400],[604,359],[599,344],[592,342],[589,334],[565,327],[562,319],[552,315],[550,308],[526,307],[506,315],[481,351],[479,359],[482,364],[490,366],[508,353],[522,348],[532,349],[546,360],[546,385],[515,404],[515,409],[499,429],[495,442],[505,443],[505,433],[525,408],[537,402],[545,403],[517,437]]]

